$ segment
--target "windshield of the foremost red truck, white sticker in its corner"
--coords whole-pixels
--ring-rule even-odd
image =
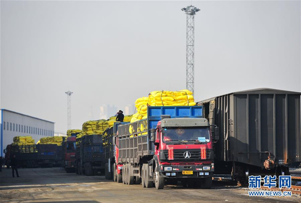
[[[165,127],[162,129],[162,138],[164,142],[210,142],[209,127]]]

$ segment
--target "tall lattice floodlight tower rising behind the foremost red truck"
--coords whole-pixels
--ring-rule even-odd
[[[200,9],[194,6],[183,8],[186,13],[186,89],[194,93],[194,15]]]

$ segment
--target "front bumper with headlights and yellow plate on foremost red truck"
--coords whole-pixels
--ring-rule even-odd
[[[166,178],[204,178],[212,176],[214,165],[161,165],[160,173]]]

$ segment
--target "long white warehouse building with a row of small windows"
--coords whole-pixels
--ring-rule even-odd
[[[1,155],[15,136],[32,136],[37,143],[41,137],[54,136],[54,122],[1,109]]]

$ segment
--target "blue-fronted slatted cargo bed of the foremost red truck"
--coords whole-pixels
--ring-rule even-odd
[[[161,115],[171,118],[202,118],[202,106],[149,106],[147,119],[118,127],[119,163],[137,163],[139,157],[154,155],[154,143],[150,142],[150,129],[158,125]]]

